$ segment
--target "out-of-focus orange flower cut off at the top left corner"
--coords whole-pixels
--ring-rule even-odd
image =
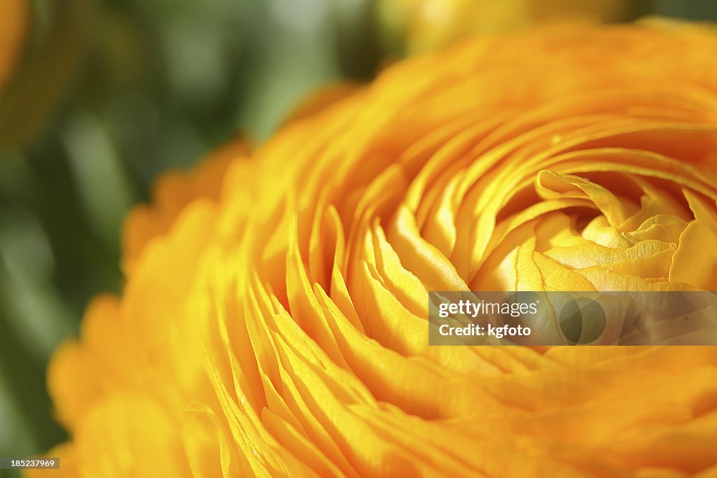
[[[24,41],[27,0],[0,1],[0,91],[11,76]]]

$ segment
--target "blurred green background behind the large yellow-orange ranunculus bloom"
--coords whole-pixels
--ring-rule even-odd
[[[92,295],[119,292],[123,217],[159,173],[237,132],[260,143],[320,85],[370,80],[392,59],[449,42],[446,31],[526,22],[483,16],[476,26],[458,11],[439,34],[425,27],[429,4],[460,10],[466,0],[28,1],[22,54],[0,90],[0,457],[66,439],[47,360],[77,335]],[[495,1],[519,13],[610,4],[599,11],[607,21],[717,20],[708,1]]]

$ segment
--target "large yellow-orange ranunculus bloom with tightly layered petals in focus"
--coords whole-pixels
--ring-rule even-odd
[[[427,346],[429,290],[717,289],[715,52],[476,39],[169,180],[52,361],[52,476],[717,476],[715,347]]]

